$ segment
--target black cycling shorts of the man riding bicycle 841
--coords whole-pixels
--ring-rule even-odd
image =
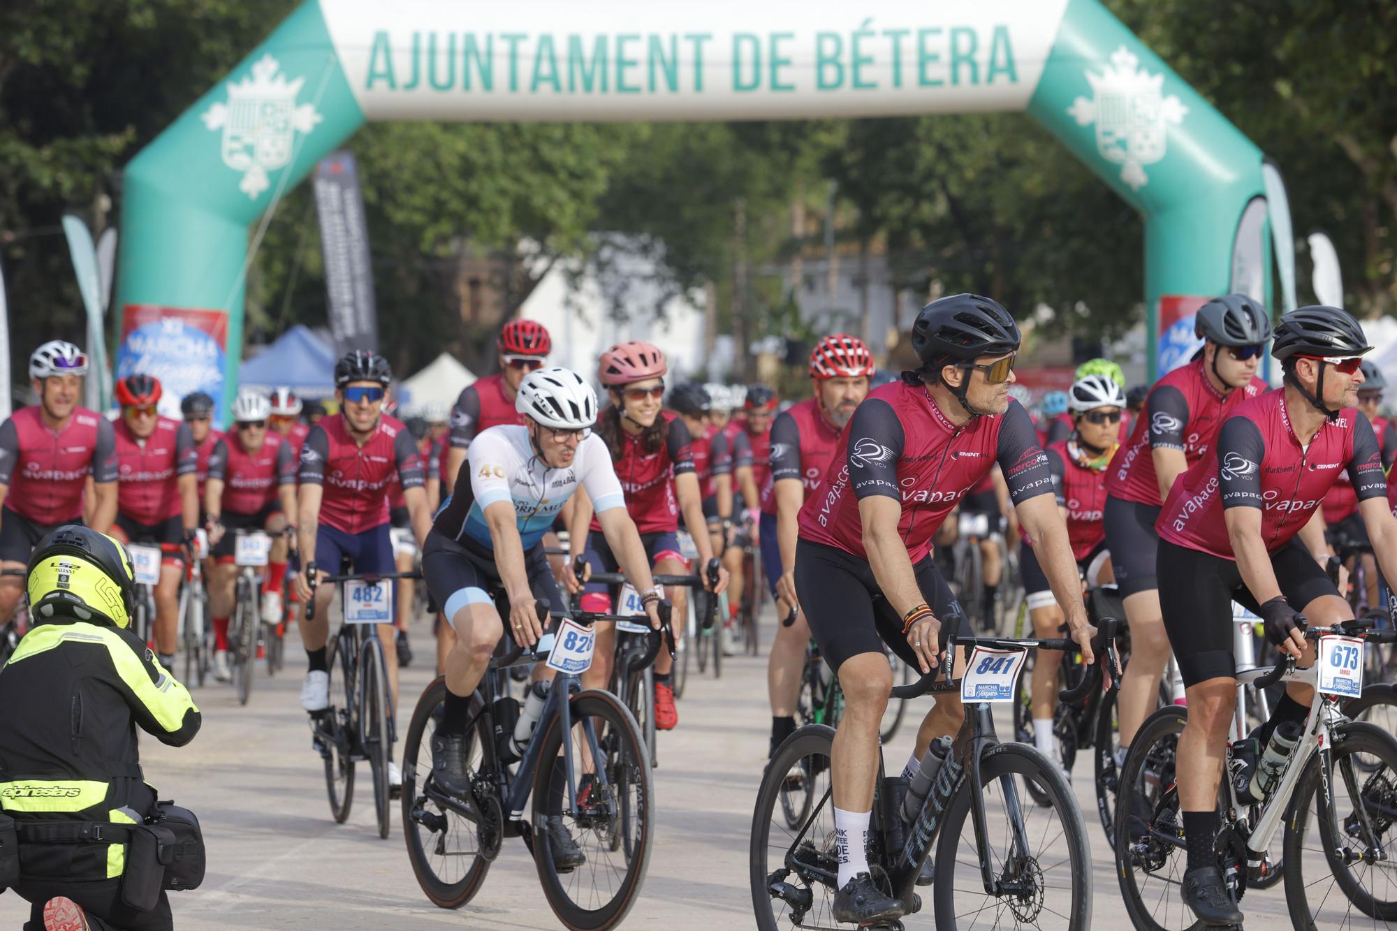
[[[942,579],[930,555],[912,566],[916,586],[937,618],[960,611],[950,586]],[[919,667],[912,644],[902,633],[902,618],[883,598],[873,566],[866,559],[837,547],[800,540],[795,548],[795,590],[810,622],[810,635],[831,670],[838,671],[851,656],[882,653],[893,647],[904,661]]]

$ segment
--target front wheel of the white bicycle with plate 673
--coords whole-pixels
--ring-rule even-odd
[[[1355,765],[1358,755],[1375,760],[1366,776]],[[1373,724],[1340,724],[1333,767],[1322,788],[1319,755],[1310,758],[1285,821],[1285,902],[1295,927],[1306,931],[1397,920],[1390,867],[1397,857],[1397,739]],[[1363,857],[1369,842],[1384,860]]]

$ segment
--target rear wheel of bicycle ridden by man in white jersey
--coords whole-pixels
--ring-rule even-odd
[[[451,798],[432,780],[432,735],[444,702],[446,681],[439,678],[418,699],[408,724],[402,748],[402,839],[408,844],[412,875],[427,899],[441,909],[460,909],[481,890],[492,858],[481,851],[481,812],[475,800]],[[479,699],[472,696],[471,702],[474,716]],[[467,739],[467,770],[492,783],[489,773],[497,763],[483,717],[476,720]]]

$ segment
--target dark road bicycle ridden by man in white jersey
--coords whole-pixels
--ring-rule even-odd
[[[509,616],[503,590],[492,596],[500,615]],[[548,605],[536,607],[546,623]],[[650,630],[657,653],[662,639],[673,650],[669,611],[662,601],[662,629]],[[645,879],[655,828],[654,777],[630,710],[610,692],[584,691],[578,677],[591,665],[595,622],[644,619],[648,628],[648,618],[591,612],[553,618],[560,629],[545,635],[534,651],[503,637],[471,696],[469,797],[444,791],[433,776],[429,748],[441,720],[446,681],[437,678],[422,693],[402,760],[408,858],[427,899],[460,909],[479,892],[504,840],[521,837],[559,920],[569,928],[612,928],[626,918]],[[515,699],[489,696],[500,695],[510,667],[536,661],[549,663],[556,677],[528,744],[518,749]],[[585,856],[581,867],[555,863],[550,819],[577,839]]]

